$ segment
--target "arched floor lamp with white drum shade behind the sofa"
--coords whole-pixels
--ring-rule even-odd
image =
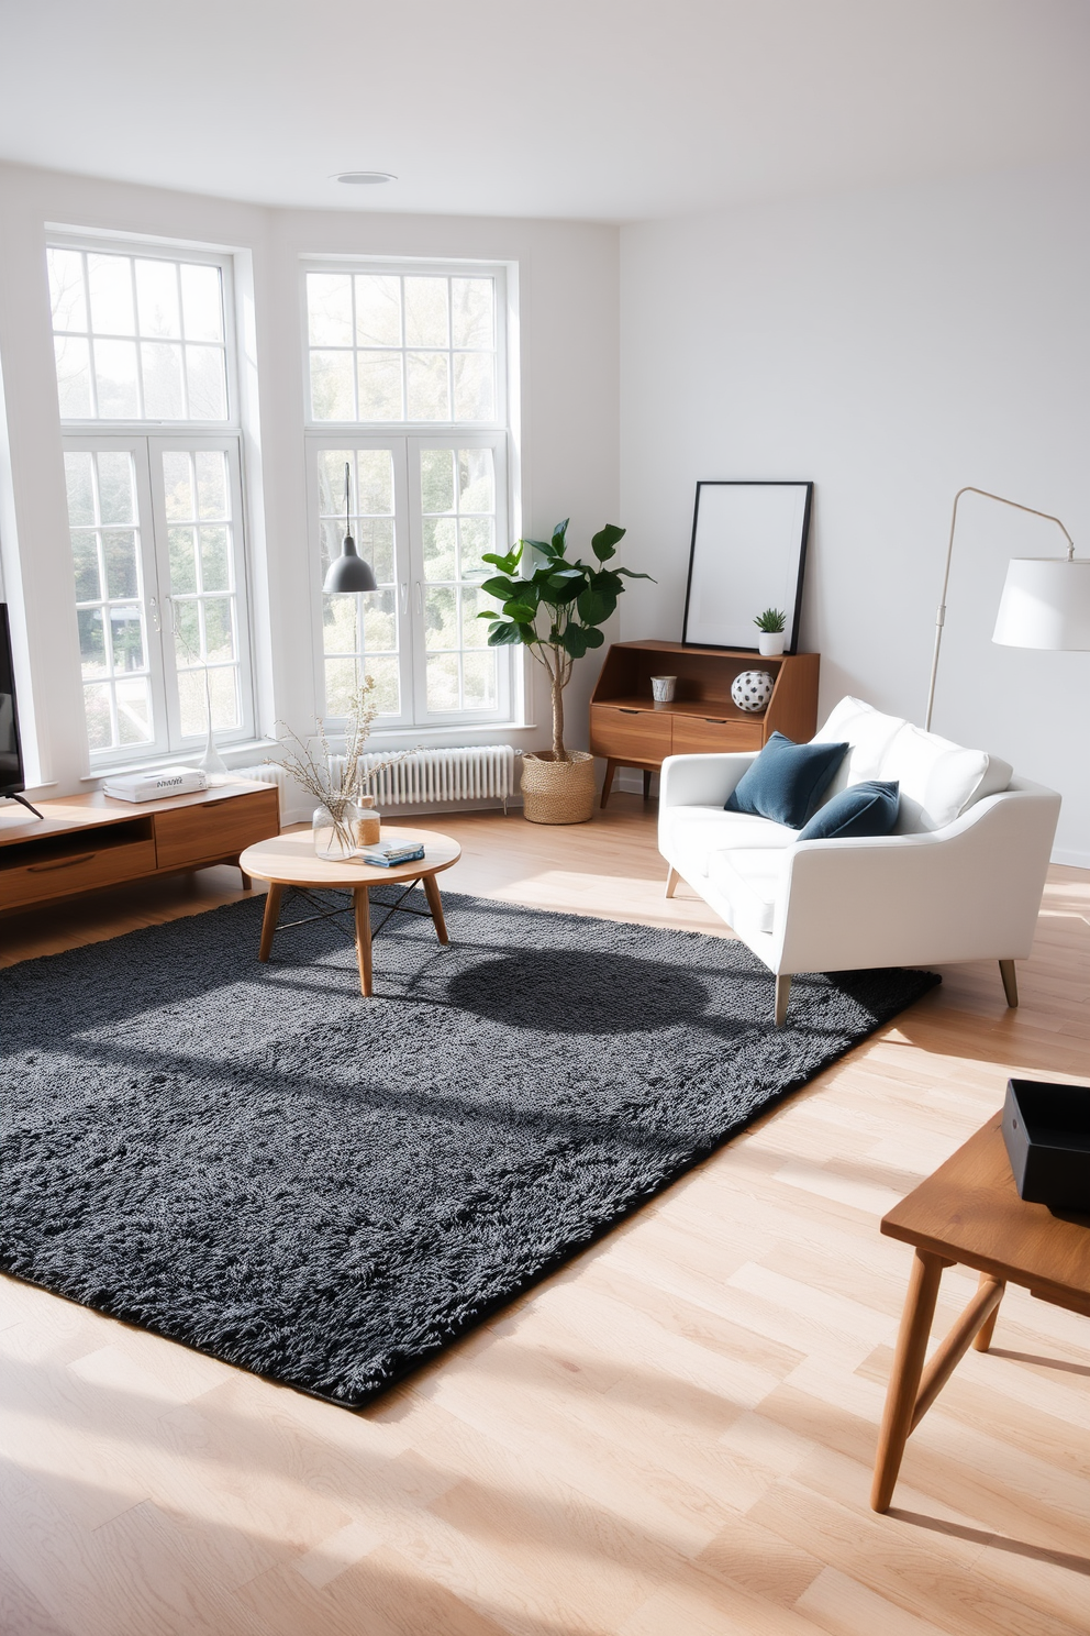
[[[946,591],[949,587],[949,561],[954,555],[958,501],[963,494],[981,494],[985,501],[998,501],[1000,506],[1013,506],[1015,510],[1028,512],[1031,517],[1044,517],[1046,522],[1054,522],[1067,540],[1067,556],[1012,556],[1007,564],[1007,581],[998,602],[992,641],[998,641],[1005,648],[1090,649],[1090,558],[1075,556],[1075,542],[1059,517],[1034,510],[1033,506],[1021,506],[1018,501],[1008,501],[1002,494],[990,494],[989,489],[974,489],[971,484],[958,489],[949,519],[943,597],[935,615],[935,656],[931,659],[931,685],[927,694],[927,721],[923,723],[928,731],[935,708],[938,654],[946,625]]]

